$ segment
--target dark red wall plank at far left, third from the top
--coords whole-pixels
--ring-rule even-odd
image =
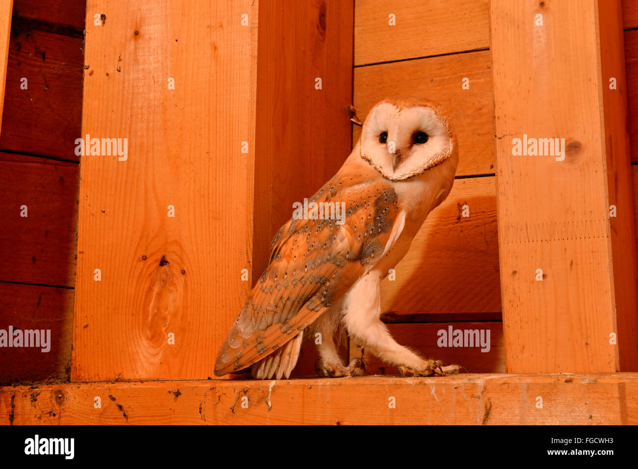
[[[78,175],[77,163],[0,153],[0,281],[75,285]]]

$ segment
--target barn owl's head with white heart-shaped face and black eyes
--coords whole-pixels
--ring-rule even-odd
[[[420,98],[385,100],[367,115],[360,155],[383,177],[404,181],[444,161],[456,165],[457,142],[437,103]]]

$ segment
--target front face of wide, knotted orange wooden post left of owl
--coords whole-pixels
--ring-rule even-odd
[[[256,8],[87,3],[107,21],[86,33],[82,135],[128,154],[82,158],[73,380],[213,374],[250,288]]]

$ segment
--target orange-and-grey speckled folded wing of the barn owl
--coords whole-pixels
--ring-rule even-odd
[[[269,265],[219,351],[216,375],[246,368],[303,332],[399,237],[405,211],[391,186],[378,180],[345,186],[333,179],[308,204],[350,201],[341,205],[343,224],[292,219],[275,235]]]

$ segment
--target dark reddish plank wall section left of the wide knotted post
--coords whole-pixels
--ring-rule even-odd
[[[69,376],[84,6],[13,1],[0,132],[0,328],[50,329],[52,346],[3,348],[0,383]]]

